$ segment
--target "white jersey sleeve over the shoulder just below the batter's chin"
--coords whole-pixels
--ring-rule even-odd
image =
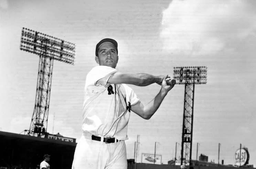
[[[108,83],[109,77],[116,72],[115,68],[109,66],[96,66],[87,74],[85,85],[99,86],[101,84],[107,87],[110,84]]]

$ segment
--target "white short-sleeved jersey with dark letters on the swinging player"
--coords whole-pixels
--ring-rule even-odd
[[[87,74],[82,129],[96,136],[126,140],[131,106],[140,100],[126,84],[108,83],[116,72],[115,68],[95,66]]]

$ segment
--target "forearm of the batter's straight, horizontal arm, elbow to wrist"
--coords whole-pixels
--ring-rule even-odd
[[[153,76],[145,73],[139,73],[136,74],[136,76],[140,79],[138,86],[148,86],[149,84],[162,81],[160,76]]]

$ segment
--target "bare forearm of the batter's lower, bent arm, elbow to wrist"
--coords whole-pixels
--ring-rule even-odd
[[[150,101],[144,107],[144,117],[145,119],[150,119],[154,113],[156,113],[157,109],[161,105],[164,97],[167,95],[168,91],[161,88],[160,92],[154,97],[152,101]]]

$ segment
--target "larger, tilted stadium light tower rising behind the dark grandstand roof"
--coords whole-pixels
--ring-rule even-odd
[[[53,60],[74,65],[75,44],[23,27],[20,49],[39,55],[35,107],[25,134],[40,137],[47,131]]]

